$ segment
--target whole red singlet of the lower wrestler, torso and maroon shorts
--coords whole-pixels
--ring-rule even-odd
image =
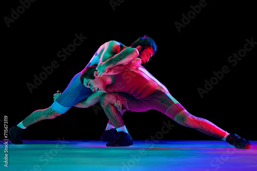
[[[128,111],[155,109],[174,119],[179,112],[185,110],[167,88],[143,67],[114,77],[115,83],[112,86],[107,85],[105,92],[117,92],[117,100],[121,100],[123,108]]]

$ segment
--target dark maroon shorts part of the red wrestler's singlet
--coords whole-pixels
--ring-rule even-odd
[[[132,112],[144,112],[154,109],[174,119],[178,113],[185,110],[169,93],[161,91],[142,99],[137,99],[123,92],[113,92],[112,94],[115,95],[116,100],[121,100],[123,109],[125,108]]]

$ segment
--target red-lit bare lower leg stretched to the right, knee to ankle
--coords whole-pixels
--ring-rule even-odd
[[[220,129],[218,126],[213,124],[212,122],[204,119],[199,118],[196,116],[191,115],[186,110],[180,112],[175,116],[174,120],[183,125],[193,129],[200,131],[206,135],[210,135],[216,138],[223,138],[226,134],[226,131]]]

